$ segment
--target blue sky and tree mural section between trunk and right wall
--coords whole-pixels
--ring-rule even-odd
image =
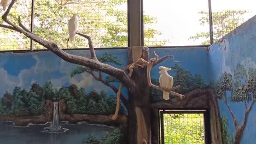
[[[176,89],[175,92],[186,94],[197,88],[205,88],[210,84],[210,79],[208,79],[208,61],[207,53],[205,48],[187,48],[187,49],[155,49],[158,55],[173,55],[173,58],[159,64],[160,66],[171,68],[168,71],[173,77],[173,87],[182,86]],[[150,56],[150,57],[153,57]],[[202,61],[203,59],[203,61]],[[159,86],[159,67],[154,67],[152,69],[152,83]],[[162,92],[150,87],[151,101],[153,103],[158,101],[171,102],[174,95],[171,95],[170,100],[162,99]]]

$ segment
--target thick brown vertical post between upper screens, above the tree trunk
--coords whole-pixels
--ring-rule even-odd
[[[142,46],[142,0],[129,0],[128,7],[128,46]]]

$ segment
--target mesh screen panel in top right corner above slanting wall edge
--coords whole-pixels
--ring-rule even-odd
[[[255,4],[254,0],[212,0],[214,42],[256,15]]]

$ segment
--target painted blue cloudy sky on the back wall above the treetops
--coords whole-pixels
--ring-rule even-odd
[[[181,65],[185,70],[189,70],[191,74],[201,75],[206,83],[209,82],[207,75],[207,54],[205,48],[177,48],[177,49],[150,49],[150,57],[153,50],[158,53],[159,57],[165,55],[173,55],[152,70],[153,79],[159,79],[158,67],[173,67],[174,64]],[[74,55],[90,57],[88,50],[68,51]],[[112,64],[114,67],[123,68],[127,64],[127,50],[96,50],[97,56],[104,53],[110,53],[117,57],[122,65]],[[110,63],[109,63],[110,64]],[[5,91],[12,92],[15,86],[24,89],[30,89],[32,83],[37,82],[43,86],[45,82],[50,81],[55,88],[67,87],[71,83],[79,88],[85,88],[87,91],[95,89],[96,91],[106,91],[108,94],[114,94],[112,89],[104,86],[101,82],[95,81],[90,74],[83,73],[70,77],[70,71],[77,65],[63,61],[61,58],[49,51],[40,51],[36,53],[5,53],[0,55],[0,97]],[[172,75],[172,71],[170,71]],[[103,78],[107,75],[103,74]],[[119,83],[113,83],[118,87]],[[127,89],[124,88],[123,93],[127,95]]]

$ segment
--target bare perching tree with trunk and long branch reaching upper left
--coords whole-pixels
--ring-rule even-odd
[[[43,39],[39,35],[28,30],[21,22],[21,18],[18,17],[18,25],[11,22],[8,19],[8,14],[15,4],[16,0],[12,0],[10,5],[2,16],[5,24],[0,24],[0,27],[11,29],[13,31],[24,34],[26,37],[36,41],[38,44],[44,46],[46,49],[52,51],[57,56],[61,57],[64,61],[82,65],[88,67],[92,70],[97,70],[99,73],[106,73],[109,76],[113,76],[121,82],[121,85],[125,86],[129,92],[129,99],[122,97],[120,91],[117,88],[112,87],[114,92],[117,92],[118,97],[120,97],[122,103],[125,105],[128,111],[127,117],[127,141],[128,143],[151,143],[151,127],[152,122],[150,119],[150,97],[149,97],[149,87],[154,87],[160,91],[168,91],[173,95],[177,95],[181,99],[184,95],[173,92],[173,89],[177,89],[180,86],[173,87],[171,89],[164,89],[152,84],[150,79],[150,70],[156,64],[161,63],[166,58],[171,56],[165,56],[158,58],[158,55],[154,53],[154,58],[149,58],[149,49],[147,47],[141,47],[140,57],[133,56],[138,53],[132,51],[136,49],[133,47],[129,49],[129,65],[123,69],[115,68],[109,64],[104,64],[98,61],[96,57],[94,47],[92,45],[91,38],[88,35],[77,33],[81,37],[88,39],[91,58],[86,58],[82,56],[72,55],[63,51],[57,44]],[[137,48],[139,49],[139,48]],[[132,59],[135,59],[134,61]],[[129,74],[126,74],[126,70],[130,70]],[[96,79],[101,77],[99,74]],[[109,85],[107,85],[109,86]],[[110,87],[110,86],[109,86]],[[119,88],[120,89],[120,88]],[[90,101],[89,101],[90,104]],[[94,104],[92,104],[94,105]],[[135,132],[136,131],[136,132]]]

